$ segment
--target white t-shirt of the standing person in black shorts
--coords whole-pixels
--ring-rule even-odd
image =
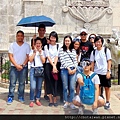
[[[101,50],[95,50],[95,56],[93,55],[93,51],[90,56],[90,61],[95,61],[94,72],[100,75],[106,75],[107,73],[107,60],[111,59],[110,50],[106,49],[106,54],[104,51],[104,47]]]

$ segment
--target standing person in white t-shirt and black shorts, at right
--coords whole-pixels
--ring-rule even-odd
[[[100,78],[100,87],[105,88],[106,104],[105,109],[110,108],[110,87],[111,87],[111,53],[108,48],[103,47],[104,40],[101,36],[95,38],[95,53],[91,53],[92,71]],[[106,49],[106,50],[105,50]]]

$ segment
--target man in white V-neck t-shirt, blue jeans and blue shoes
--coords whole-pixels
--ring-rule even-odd
[[[24,32],[19,30],[16,33],[16,42],[11,43],[9,47],[10,85],[7,104],[11,104],[14,99],[14,90],[18,79],[18,100],[24,103],[24,89],[27,72],[27,63],[29,58],[30,46],[24,42]]]

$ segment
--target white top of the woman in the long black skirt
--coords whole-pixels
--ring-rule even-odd
[[[56,45],[49,44],[49,50],[48,50],[47,45],[45,45],[44,46],[45,56],[46,57],[49,56],[52,59],[52,61],[54,62],[54,58],[58,57],[59,49],[60,49],[60,45],[58,46],[58,49],[57,49],[57,44]],[[48,59],[47,59],[46,63],[49,63]]]

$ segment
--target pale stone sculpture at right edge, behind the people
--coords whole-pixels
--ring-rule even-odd
[[[112,58],[116,64],[120,64],[120,31],[112,29],[111,37],[106,41],[105,44],[112,54]]]

